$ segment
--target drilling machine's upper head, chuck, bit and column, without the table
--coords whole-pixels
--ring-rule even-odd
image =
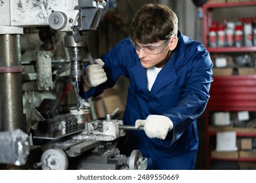
[[[23,71],[20,35],[24,33],[24,27],[50,26],[68,33],[64,39],[65,46],[71,48],[74,54],[70,58],[70,75],[72,81],[76,82],[76,90],[79,90],[78,82],[83,81],[83,58],[79,53],[84,49],[89,54],[87,37],[83,32],[97,29],[106,3],[104,0],[1,1],[1,13],[6,15],[1,17],[0,23],[0,80],[6,86],[0,93],[2,131],[24,130],[21,123],[23,110],[20,90]],[[91,54],[88,56],[93,63]]]

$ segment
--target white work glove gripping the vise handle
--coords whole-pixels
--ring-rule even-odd
[[[146,120],[136,120],[135,127],[144,126],[146,135],[150,138],[165,139],[168,131],[173,129],[173,122],[166,116],[148,115]]]

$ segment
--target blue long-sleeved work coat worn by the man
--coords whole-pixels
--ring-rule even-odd
[[[205,110],[213,81],[213,63],[203,44],[182,35],[181,31],[178,37],[175,52],[161,69],[151,91],[147,88],[146,69],[127,38],[101,57],[108,80],[81,94],[84,99],[99,95],[113,87],[119,76],[125,76],[130,81],[123,114],[125,125],[135,125],[137,119],[144,120],[150,114],[171,119],[173,130],[165,140],[150,139],[144,131],[128,134],[123,146],[126,154],[140,150],[143,157],[150,159],[150,169],[194,169],[198,150],[196,119]],[[192,163],[183,165],[181,159],[183,163]]]

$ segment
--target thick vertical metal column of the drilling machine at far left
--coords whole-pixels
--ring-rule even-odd
[[[20,35],[0,34],[0,42],[0,131],[24,131]]]

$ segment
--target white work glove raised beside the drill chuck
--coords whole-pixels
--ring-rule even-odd
[[[108,80],[102,67],[102,59],[96,59],[95,64],[90,64],[85,68],[85,84],[89,87],[96,87]]]

